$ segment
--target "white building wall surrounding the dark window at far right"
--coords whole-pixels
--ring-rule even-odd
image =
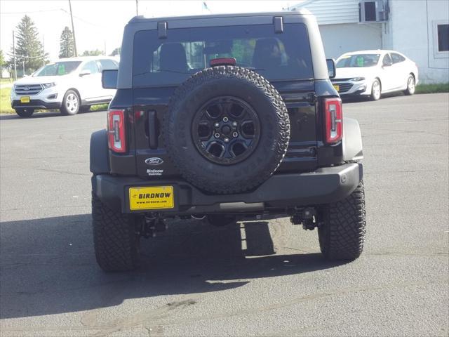
[[[390,0],[390,18],[385,25],[385,49],[404,53],[415,61],[422,83],[449,82],[449,53],[434,52],[434,22],[449,21],[449,1]]]

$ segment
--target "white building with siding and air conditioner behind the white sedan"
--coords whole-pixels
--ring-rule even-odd
[[[449,82],[449,1],[306,0],[318,20],[327,58],[391,49],[415,61],[422,83]]]

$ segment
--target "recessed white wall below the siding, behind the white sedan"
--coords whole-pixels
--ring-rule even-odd
[[[382,24],[347,23],[320,25],[326,58],[337,58],[348,51],[382,48]]]

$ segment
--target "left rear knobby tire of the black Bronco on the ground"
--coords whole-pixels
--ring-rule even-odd
[[[92,192],[92,225],[95,258],[105,272],[138,267],[139,236],[135,217],[109,209]]]

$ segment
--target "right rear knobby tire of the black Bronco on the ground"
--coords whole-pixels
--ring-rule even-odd
[[[349,197],[321,209],[318,227],[321,253],[328,260],[355,260],[363,251],[366,232],[363,181]]]

